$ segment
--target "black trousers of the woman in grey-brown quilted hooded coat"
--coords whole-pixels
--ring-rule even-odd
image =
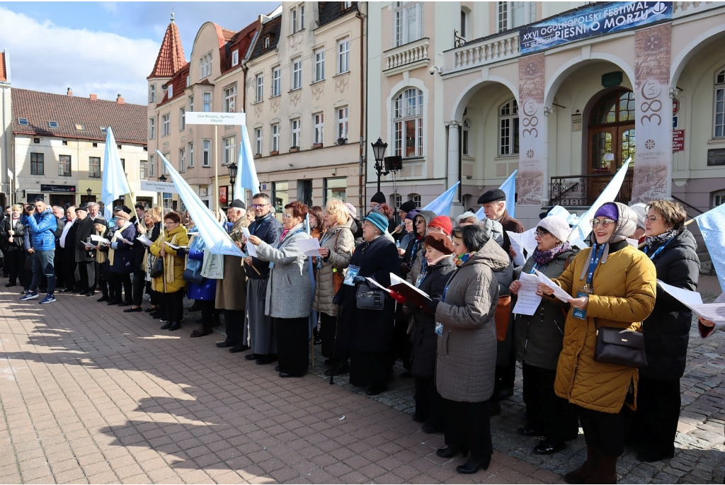
[[[457,402],[443,399],[445,442],[448,446],[471,452],[473,460],[491,457],[494,447],[491,442],[491,415],[489,402]]]

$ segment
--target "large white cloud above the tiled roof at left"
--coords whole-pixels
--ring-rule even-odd
[[[0,49],[9,49],[12,86],[146,104],[146,76],[159,43],[64,28],[0,7]]]

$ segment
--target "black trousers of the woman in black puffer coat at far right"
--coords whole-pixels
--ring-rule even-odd
[[[640,377],[637,384],[637,411],[631,423],[631,436],[637,446],[663,455],[674,453],[681,405],[679,379],[654,381]]]

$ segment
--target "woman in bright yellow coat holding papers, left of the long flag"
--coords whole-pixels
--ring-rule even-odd
[[[161,329],[175,331],[181,328],[183,315],[183,291],[186,283],[183,280],[183,270],[186,268],[184,250],[188,246],[188,236],[177,212],[164,215],[164,225],[164,231],[149,248],[151,254],[164,259],[164,274],[153,278],[152,285],[161,295],[162,307],[166,313]],[[179,249],[173,249],[172,246],[178,246]]]

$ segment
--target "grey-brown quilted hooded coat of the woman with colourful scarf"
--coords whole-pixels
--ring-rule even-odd
[[[443,324],[436,389],[444,399],[483,402],[494,392],[498,284],[493,273],[508,262],[508,254],[489,239],[447,283],[445,301],[436,308],[436,322]]]

